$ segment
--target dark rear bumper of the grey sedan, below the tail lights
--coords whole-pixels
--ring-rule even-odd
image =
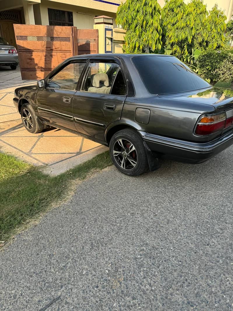
[[[233,144],[233,131],[206,143],[187,142],[155,134],[140,132],[150,150],[186,163],[201,163]]]

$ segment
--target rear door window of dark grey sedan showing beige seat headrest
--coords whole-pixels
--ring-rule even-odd
[[[119,65],[116,63],[90,63],[82,91],[110,94]]]

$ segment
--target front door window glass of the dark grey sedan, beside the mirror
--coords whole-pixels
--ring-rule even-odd
[[[47,87],[75,91],[85,64],[86,62],[68,64],[48,80]]]

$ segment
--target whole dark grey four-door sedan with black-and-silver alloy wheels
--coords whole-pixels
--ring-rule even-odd
[[[233,143],[233,91],[174,56],[68,58],[37,85],[17,88],[14,104],[29,132],[53,126],[107,145],[131,176],[156,169],[159,158],[200,163]]]

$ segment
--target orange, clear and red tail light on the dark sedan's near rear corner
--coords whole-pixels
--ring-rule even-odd
[[[199,119],[195,134],[210,135],[212,133],[222,131],[224,128],[226,128],[226,124],[228,123],[229,119],[226,119],[226,112],[214,115],[203,115]],[[232,120],[229,120],[229,123],[230,122],[232,124]]]

